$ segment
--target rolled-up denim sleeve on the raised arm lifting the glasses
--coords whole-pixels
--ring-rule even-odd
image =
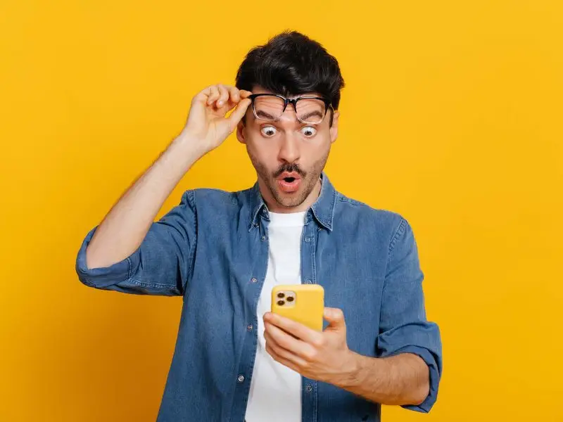
[[[86,286],[138,295],[183,295],[196,248],[194,191],[186,191],[179,205],[151,224],[132,255],[110,267],[88,268],[86,249],[97,229],[84,238],[76,259],[78,278]]]

